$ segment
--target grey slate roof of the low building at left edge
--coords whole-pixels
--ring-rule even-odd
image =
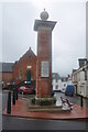
[[[0,63],[0,72],[13,72],[12,67],[13,67],[14,63]]]

